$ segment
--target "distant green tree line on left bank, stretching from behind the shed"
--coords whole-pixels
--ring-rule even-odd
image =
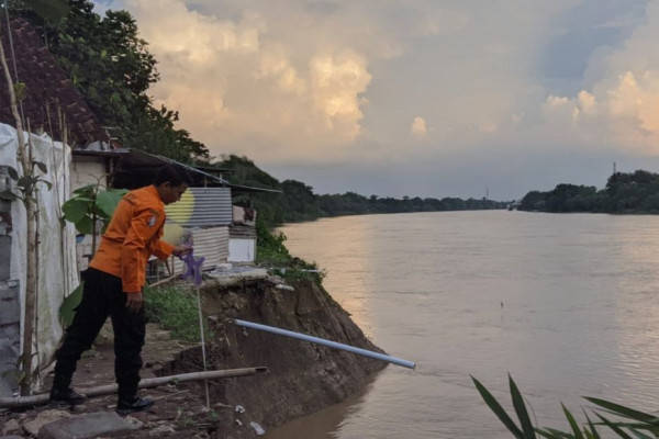
[[[507,202],[484,199],[409,198],[394,199],[377,195],[364,196],[355,192],[317,195],[313,188],[301,181],[279,181],[259,169],[246,157],[228,156],[214,164],[230,170],[231,182],[259,188],[278,189],[281,193],[245,193],[234,196],[235,202],[254,206],[259,217],[269,226],[297,221],[311,221],[324,216],[375,213],[437,212],[506,209]]]

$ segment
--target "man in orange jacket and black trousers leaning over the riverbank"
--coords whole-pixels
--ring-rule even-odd
[[[164,166],[154,184],[129,192],[119,202],[89,269],[83,273],[82,301],[64,342],[57,350],[51,401],[80,404],[85,397],[71,390],[71,378],[81,353],[91,347],[108,316],[114,330],[114,375],[119,384],[116,410],[143,410],[153,401],[137,396],[139,356],[145,336],[145,271],[150,255],[167,259],[190,251],[163,240],[165,204],[178,201],[188,189],[188,176]]]

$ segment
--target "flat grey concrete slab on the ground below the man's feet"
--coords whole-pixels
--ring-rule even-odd
[[[134,424],[114,412],[97,412],[56,420],[42,427],[38,439],[88,439],[135,430]]]

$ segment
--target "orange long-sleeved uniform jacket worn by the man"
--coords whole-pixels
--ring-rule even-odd
[[[165,204],[154,185],[126,193],[89,266],[121,278],[124,292],[141,292],[150,255],[167,259],[174,250],[160,240],[164,225]]]

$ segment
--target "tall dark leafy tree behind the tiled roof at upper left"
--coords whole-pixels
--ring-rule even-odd
[[[101,18],[91,1],[68,0],[66,18],[54,23],[25,8],[25,2],[14,3],[16,13],[44,30],[49,50],[124,147],[185,162],[208,161],[208,148],[175,127],[178,112],[155,108],[147,94],[159,80],[157,63],[127,11],[108,11]]]

